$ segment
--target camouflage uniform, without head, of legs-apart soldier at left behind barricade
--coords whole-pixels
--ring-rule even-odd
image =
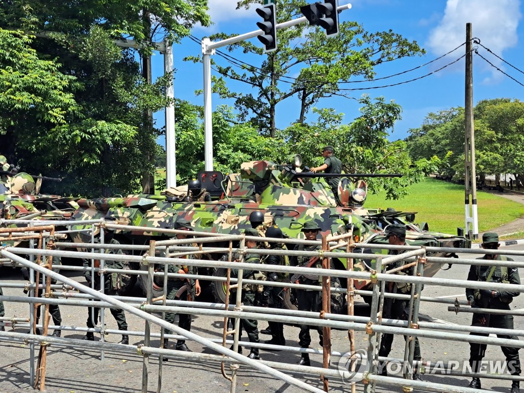
[[[100,244],[100,238],[95,239],[95,243]],[[120,244],[116,239],[111,238],[110,241],[106,242],[108,245],[118,245]],[[106,249],[105,254],[115,254],[115,255],[124,255],[121,249]],[[94,257],[97,255],[94,254]],[[122,260],[104,260],[104,268],[107,269],[123,269],[125,265],[125,262]],[[91,267],[91,259],[84,259],[84,267]],[[104,293],[108,296],[117,296],[118,295],[118,289],[115,288],[115,281],[117,280],[117,273],[106,273],[104,275]],[[88,281],[88,284],[91,286],[91,270],[84,271],[84,277]],[[100,288],[100,278],[95,275],[94,280],[94,289],[99,291]],[[111,308],[111,314],[115,318],[116,324],[118,325],[118,330],[126,331],[127,330],[127,322],[126,322],[126,315],[124,313],[124,310],[122,309],[115,309]],[[94,328],[93,319],[95,321],[99,320],[99,313],[100,309],[97,307],[88,307],[88,321],[87,325],[88,328]],[[88,333],[86,335],[87,340],[93,340],[93,333]],[[125,341],[128,341],[127,335],[122,336],[122,340],[127,344]]]

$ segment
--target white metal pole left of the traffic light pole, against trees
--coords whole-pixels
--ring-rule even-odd
[[[168,40],[165,41],[166,52],[164,53],[164,75],[173,71],[173,45]],[[174,99],[173,78],[169,84],[166,96]],[[177,187],[177,159],[176,159],[176,138],[174,132],[174,105],[171,103],[166,106],[166,188]]]

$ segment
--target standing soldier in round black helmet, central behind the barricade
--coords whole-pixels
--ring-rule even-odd
[[[270,226],[267,228],[266,237],[272,238],[283,238],[282,231],[278,226]],[[282,250],[287,251],[287,247],[284,243],[269,242],[269,249],[272,250]],[[267,255],[263,258],[262,263],[265,265],[276,265],[276,266],[286,266],[287,256],[284,255]],[[287,279],[288,274],[277,273],[277,272],[266,272],[267,281],[272,282],[284,282]],[[284,298],[284,288],[283,287],[272,287],[271,285],[264,286],[264,292],[262,296],[262,305],[270,305],[273,308],[283,309],[283,298]],[[271,340],[266,340],[266,344],[273,345],[286,345],[286,339],[284,338],[284,324],[282,322],[272,322],[269,321],[269,328],[271,334]]]

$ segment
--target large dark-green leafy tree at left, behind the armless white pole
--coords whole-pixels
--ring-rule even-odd
[[[50,132],[38,122],[35,135],[13,127],[14,138],[27,139],[34,149],[16,145],[16,156],[31,170],[52,167],[66,180],[56,192],[86,196],[136,192],[140,177],[154,173],[156,138],[160,130],[144,113],[169,104],[165,91],[172,75],[147,83],[140,74],[134,49],[115,46],[115,39],[177,41],[194,23],[209,24],[203,0],[143,0],[130,2],[54,2],[24,6],[21,0],[0,4],[0,26],[26,31],[54,31],[31,43],[43,59],[58,59],[60,72],[76,78],[65,88],[73,94],[77,112],[67,124]],[[147,12],[151,17],[145,21]],[[145,28],[150,23],[151,28]],[[14,119],[20,122],[20,119]],[[36,142],[38,141],[38,142]],[[75,154],[72,155],[71,151]]]

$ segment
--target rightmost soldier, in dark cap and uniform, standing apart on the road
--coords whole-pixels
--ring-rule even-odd
[[[487,232],[482,235],[482,248],[487,250],[496,250],[500,244],[498,243],[498,235],[494,232]],[[486,254],[482,258],[486,260],[513,260],[502,255]],[[509,284],[520,285],[520,278],[517,268],[508,268],[503,266],[487,265],[471,265],[470,272],[467,276],[470,281],[483,282],[504,282]],[[466,288],[467,300],[471,302],[472,308],[495,309],[495,310],[510,310],[509,303],[513,301],[519,292],[510,291],[495,291],[487,289]],[[483,326],[498,329],[513,330],[513,315],[499,315],[499,314],[473,314],[472,326]],[[497,334],[500,339],[518,340],[517,336],[509,334]],[[470,333],[472,335],[488,336],[488,334]],[[501,346],[502,352],[506,356],[506,365],[511,375],[520,375],[520,359],[519,350],[514,347]],[[482,358],[486,352],[486,344],[470,343],[470,365],[473,373],[478,373]],[[473,378],[470,388],[481,389],[480,378]],[[519,393],[519,381],[514,380],[511,383],[511,393]]]

